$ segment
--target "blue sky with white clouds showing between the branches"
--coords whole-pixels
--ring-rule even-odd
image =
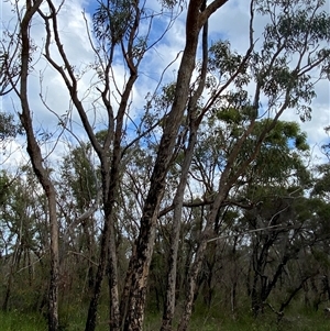
[[[218,38],[228,38],[232,45],[232,48],[237,52],[244,53],[249,46],[248,27],[249,27],[249,2],[242,0],[229,0],[220,10],[218,10],[209,22],[210,44]],[[19,1],[23,3],[23,1]],[[84,103],[89,109],[90,118],[95,117],[95,125],[103,128],[102,110],[96,102],[91,104],[94,99],[94,90],[90,88],[97,81],[95,73],[87,70],[90,63],[94,62],[94,52],[89,46],[88,34],[86,33],[86,24],[91,24],[91,14],[97,1],[85,0],[65,0],[59,14],[59,32],[62,42],[67,53],[69,60],[76,66],[77,70],[86,71],[84,77],[79,80],[79,93],[84,96]],[[1,27],[2,36],[8,26],[13,26],[14,14],[11,11],[11,4],[9,1],[1,1]],[[158,11],[158,1],[146,1],[146,8],[150,11]],[[326,10],[330,10],[329,0],[324,5]],[[161,35],[161,29],[164,24],[168,23],[169,15],[163,13],[155,18],[151,36],[156,38]],[[257,19],[255,22],[255,34],[262,33],[263,20]],[[142,26],[147,29],[146,25]],[[42,55],[44,45],[44,31],[43,22],[38,19],[35,20],[31,30],[35,45],[38,47],[33,58],[33,71],[31,73],[31,80],[29,86],[29,92],[32,100],[33,120],[37,132],[47,131],[50,133],[58,133],[58,117],[64,115],[70,108],[70,101],[66,91],[66,88],[58,75],[46,63]],[[161,43],[150,49],[145,57],[145,62],[141,67],[139,81],[133,89],[131,96],[132,100],[132,117],[139,117],[143,111],[145,104],[145,96],[147,93],[154,93],[155,88],[158,85],[160,77],[163,77],[163,82],[169,82],[175,80],[177,68],[179,65],[180,53],[185,45],[185,11],[176,19],[175,23],[167,32]],[[55,53],[54,53],[55,54]],[[55,58],[58,58],[55,55]],[[169,66],[172,62],[178,58],[174,64]],[[123,69],[122,62],[116,59],[113,76],[117,79],[119,86],[123,85],[127,79],[127,73]],[[167,67],[166,73],[162,76],[163,70]],[[318,159],[324,161],[324,156],[321,153],[320,146],[329,141],[323,128],[330,125],[330,86],[329,81],[320,81],[317,87],[317,98],[312,102],[312,119],[302,123],[299,120],[299,115],[295,111],[289,110],[283,115],[283,120],[298,121],[301,125],[301,130],[307,132],[308,142],[312,147],[315,162]],[[47,103],[47,108],[40,100],[40,95],[43,96],[44,101]],[[114,93],[116,102],[116,93]],[[51,109],[51,111],[50,111]],[[6,96],[0,100],[0,111],[18,112],[20,106],[18,99],[13,95]],[[76,121],[77,128],[79,126],[79,120],[77,114],[73,113],[73,119]],[[56,134],[55,134],[56,135]],[[69,135],[67,135],[69,136]],[[70,136],[70,140],[74,139]],[[54,140],[55,141],[55,140]],[[12,165],[20,163],[24,156],[24,146],[20,143],[13,142],[10,145],[11,151],[15,151],[11,158],[7,159],[7,156],[2,156],[2,165]],[[45,144],[44,153],[48,153],[53,148],[53,145]],[[63,151],[57,151],[61,156]],[[6,163],[4,163],[6,162]],[[1,162],[0,162],[1,167]]]

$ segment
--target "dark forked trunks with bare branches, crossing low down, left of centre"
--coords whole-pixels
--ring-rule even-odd
[[[99,253],[99,263],[95,278],[95,286],[92,296],[89,304],[87,321],[85,326],[85,330],[92,331],[96,328],[97,322],[97,309],[101,294],[102,282],[105,278],[106,271],[108,271],[109,277],[109,293],[110,293],[110,328],[116,331],[119,330],[120,326],[120,302],[119,302],[119,294],[118,294],[118,269],[117,269],[117,251],[116,251],[116,229],[114,229],[114,203],[116,196],[119,187],[120,179],[120,161],[121,161],[121,140],[123,134],[123,119],[125,115],[125,111],[128,108],[128,101],[132,91],[132,88],[138,78],[138,66],[141,60],[136,60],[133,63],[132,56],[127,56],[128,54],[132,54],[134,48],[134,38],[136,35],[136,31],[140,24],[140,9],[139,1],[134,4],[132,3],[135,10],[135,21],[133,26],[131,26],[130,37],[128,43],[128,49],[124,49],[124,45],[122,45],[123,56],[127,60],[128,68],[130,70],[130,77],[124,86],[124,91],[121,95],[120,106],[114,117],[112,106],[110,102],[110,76],[111,76],[111,66],[112,66],[112,57],[114,53],[116,44],[111,44],[109,53],[107,53],[107,63],[103,65],[103,77],[105,77],[105,87],[103,90],[100,91],[101,100],[103,102],[105,109],[108,113],[108,132],[106,136],[106,141],[103,144],[100,144],[97,140],[97,136],[94,132],[94,126],[90,124],[87,112],[84,108],[81,100],[78,97],[78,82],[73,70],[73,67],[67,58],[65,53],[63,43],[59,37],[58,24],[57,24],[57,11],[55,9],[54,3],[48,0],[47,4],[50,7],[51,15],[43,14],[43,12],[38,11],[41,16],[44,19],[46,24],[46,43],[45,43],[45,57],[48,63],[59,73],[62,76],[67,90],[69,92],[70,99],[80,117],[84,129],[88,135],[88,139],[97,153],[100,159],[100,173],[101,173],[101,181],[102,181],[102,200],[103,200],[103,212],[105,212],[105,224],[101,234],[100,242],[100,253]],[[52,26],[51,26],[52,25]],[[55,62],[54,57],[52,57],[52,38],[55,41],[55,45],[61,55],[61,58],[65,66],[59,65]],[[95,49],[96,51],[96,49]],[[96,51],[97,52],[97,51]],[[98,53],[96,54],[99,56]],[[100,59],[101,60],[101,59]],[[64,69],[65,68],[65,69]],[[109,157],[109,151],[111,151],[111,146],[113,147],[111,157]],[[109,162],[111,159],[111,163]],[[107,269],[108,267],[108,269]]]

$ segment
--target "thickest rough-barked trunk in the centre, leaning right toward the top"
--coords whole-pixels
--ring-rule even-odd
[[[178,70],[175,100],[173,108],[166,118],[164,133],[151,178],[150,191],[145,200],[141,219],[140,233],[136,240],[136,253],[132,256],[133,274],[124,331],[141,331],[143,327],[146,282],[155,240],[156,220],[165,189],[165,178],[172,159],[172,152],[175,146],[179,125],[182,124],[189,93],[189,82],[195,68],[195,57],[200,31],[200,3],[201,1],[189,2],[186,26],[186,47]]]

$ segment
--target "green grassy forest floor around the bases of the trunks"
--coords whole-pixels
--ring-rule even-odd
[[[65,320],[61,331],[81,331],[84,320]],[[46,331],[46,321],[42,316],[21,313],[19,311],[0,312],[0,331]],[[99,322],[98,331],[108,330],[106,322]],[[160,316],[148,315],[145,319],[144,331],[160,330]],[[175,330],[175,329],[174,329]],[[278,323],[270,317],[252,319],[245,317],[237,320],[231,318],[215,318],[200,316],[193,318],[189,331],[329,331],[330,318],[322,312],[285,317]]]

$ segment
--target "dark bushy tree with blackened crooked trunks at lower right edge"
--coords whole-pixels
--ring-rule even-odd
[[[263,202],[257,211],[244,214],[250,229],[264,227],[250,236],[252,254],[246,284],[254,316],[270,307],[280,319],[302,290],[305,304],[312,301],[317,308],[322,297],[329,297],[329,229],[324,222],[329,207],[292,189],[279,190]]]

